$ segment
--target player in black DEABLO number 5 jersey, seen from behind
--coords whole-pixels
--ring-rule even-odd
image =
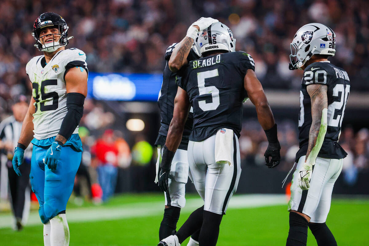
[[[178,47],[179,53],[189,53],[197,33],[203,58],[184,66],[179,72],[182,78],[176,80],[179,87],[163,147],[159,184],[163,190],[168,190],[170,164],[192,105],[193,130],[187,153],[190,173],[204,206],[196,209],[175,235],[159,242],[160,246],[179,246],[199,229],[199,245],[216,245],[221,219],[237,189],[241,173],[238,137],[245,91],[256,107],[258,120],[269,141],[265,152],[267,165],[275,167],[280,162],[277,126],[255,76],[254,60],[246,52],[235,52],[232,31],[221,22],[207,28],[201,24],[191,26]]]

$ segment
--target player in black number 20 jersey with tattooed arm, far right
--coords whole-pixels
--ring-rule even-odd
[[[320,23],[301,27],[291,43],[290,69],[304,70],[300,90],[299,145],[288,210],[286,245],[306,245],[309,227],[319,246],[337,245],[325,224],[332,189],[347,153],[338,144],[350,80],[328,58],[335,34]],[[295,163],[295,164],[296,164]]]

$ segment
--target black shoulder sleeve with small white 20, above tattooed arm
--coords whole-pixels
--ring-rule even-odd
[[[302,78],[302,85],[332,84],[335,80],[334,65],[329,62],[314,62],[306,67]]]

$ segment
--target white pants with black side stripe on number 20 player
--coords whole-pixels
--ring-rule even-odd
[[[296,171],[292,176],[291,199],[288,211],[309,216],[310,222],[324,223],[331,207],[332,190],[335,181],[342,170],[342,159],[326,159],[317,157],[310,179],[310,189],[301,190],[299,187],[299,173],[303,169],[306,156],[301,156]]]

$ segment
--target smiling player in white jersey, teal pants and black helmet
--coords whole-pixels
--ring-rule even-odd
[[[78,124],[87,94],[86,55],[65,49],[68,25],[58,14],[47,12],[35,21],[32,36],[44,55],[26,66],[32,99],[24,118],[13,167],[20,175],[25,148],[32,142],[30,180],[44,224],[44,245],[69,245],[65,216],[76,172],[82,157]]]

